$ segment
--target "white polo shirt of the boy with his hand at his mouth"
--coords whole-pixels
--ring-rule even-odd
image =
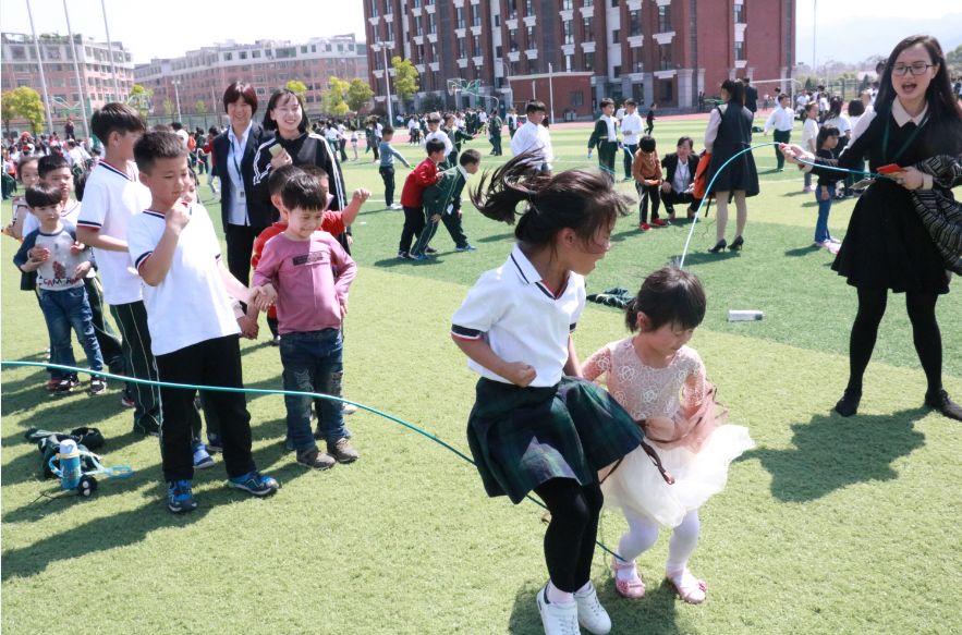
[[[162,213],[146,210],[131,219],[127,244],[139,270],[154,254],[167,224]],[[157,286],[144,283],[150,351],[166,355],[215,338],[241,332],[231,298],[220,278],[220,243],[204,206],[191,206],[167,276]]]

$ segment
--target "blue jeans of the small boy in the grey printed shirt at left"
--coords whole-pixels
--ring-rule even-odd
[[[87,290],[75,286],[64,291],[40,290],[40,309],[50,334],[50,362],[63,366],[76,366],[73,346],[70,342],[70,329],[77,334],[81,346],[87,355],[90,370],[103,370],[103,356],[94,330],[94,314],[87,301]],[[68,370],[54,368],[52,379],[66,379],[72,375]]]

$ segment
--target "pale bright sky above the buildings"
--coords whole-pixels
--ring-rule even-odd
[[[102,0],[110,35],[133,53],[135,63],[171,58],[216,41],[302,40],[354,33],[364,38],[361,0],[283,0],[292,17],[265,16],[265,3],[234,0],[165,0],[145,21],[144,0]],[[710,1],[710,0],[708,0]],[[772,0],[765,0],[772,1]],[[74,33],[106,39],[100,0],[66,0]],[[870,14],[866,15],[866,5]],[[962,9],[953,0],[796,0],[797,60],[812,64],[813,24],[817,63],[857,62],[886,56],[906,35],[931,33],[947,50],[962,44]],[[63,0],[32,0],[38,33],[66,33]],[[248,9],[251,8],[251,9]],[[817,11],[815,11],[817,9]],[[750,16],[751,27],[751,16]],[[817,21],[817,22],[816,22]],[[167,25],[165,28],[163,25]],[[0,28],[29,33],[26,0],[0,3]]]

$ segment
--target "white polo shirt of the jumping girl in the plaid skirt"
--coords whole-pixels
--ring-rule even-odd
[[[465,340],[485,339],[507,362],[535,368],[532,387],[555,386],[568,363],[568,340],[585,306],[585,282],[569,272],[559,294],[548,289],[515,245],[498,269],[486,271],[467,292],[451,318],[451,333]],[[503,377],[468,359],[482,377],[510,383]]]

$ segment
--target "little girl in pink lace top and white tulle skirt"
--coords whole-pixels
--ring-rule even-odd
[[[666,576],[692,605],[705,600],[706,585],[687,569],[698,541],[698,508],[724,488],[729,463],[755,443],[742,426],[723,425],[715,388],[705,380],[702,358],[685,344],[705,317],[698,279],[677,267],[648,276],[628,305],[625,321],[635,334],[612,342],[584,365],[585,379],[604,378],[611,395],[656,448],[674,484],[662,481],[647,455],[626,455],[604,480],[606,506],[621,508],[629,529],[612,561],[614,588],[638,599],[645,584],[635,558],[672,528]]]

